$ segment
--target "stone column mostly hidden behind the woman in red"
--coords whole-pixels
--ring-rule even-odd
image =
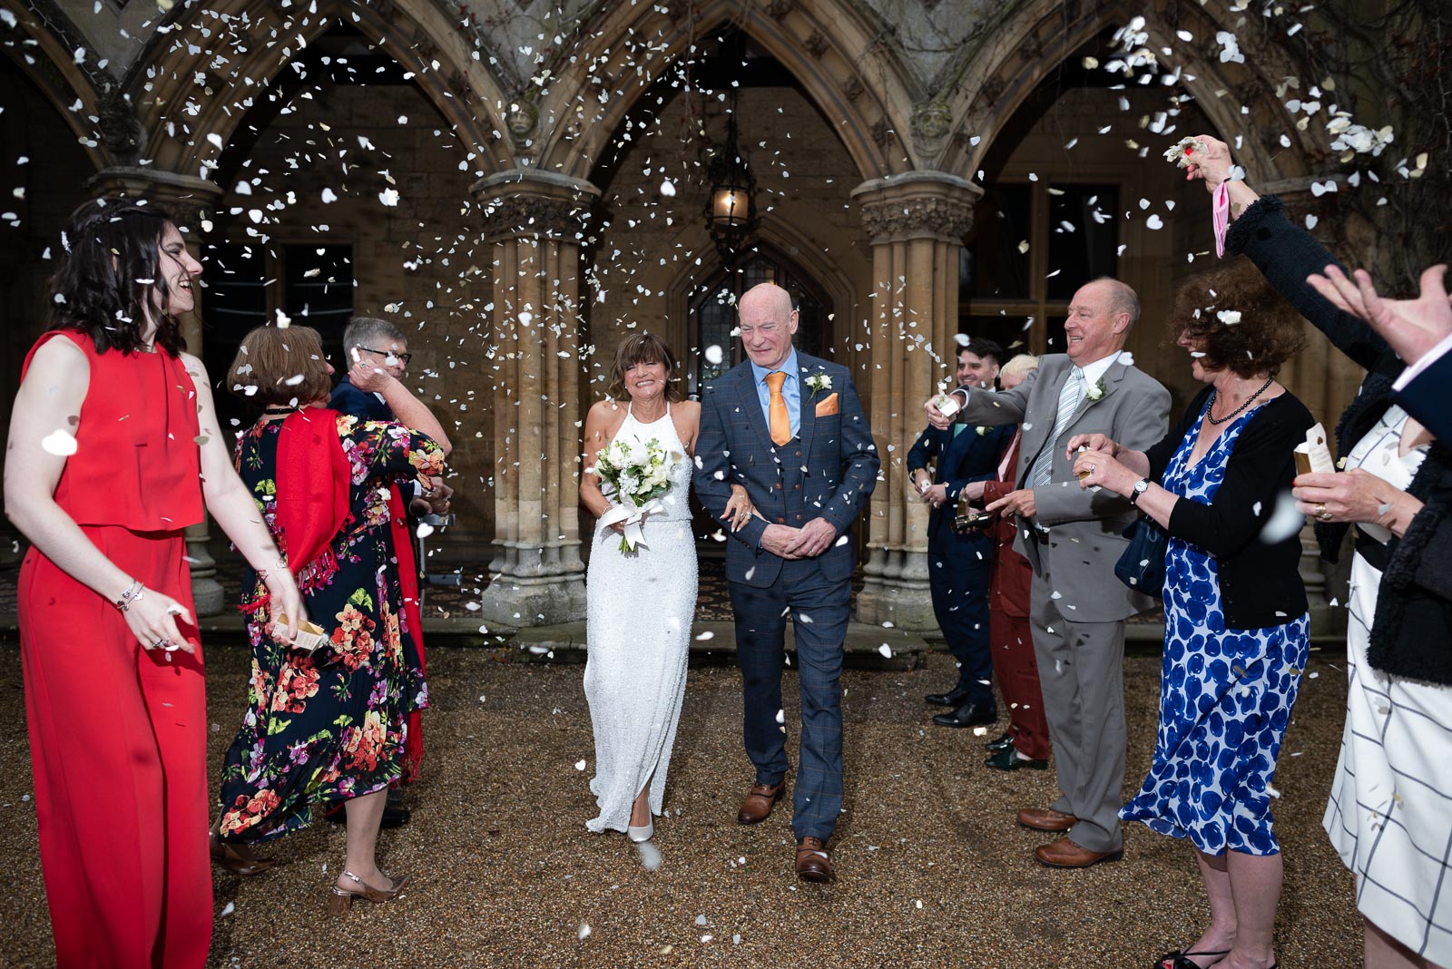
[[[179,176],[142,167],[106,168],[90,180],[97,194],[118,194],[131,199],[147,199],[166,209],[182,229],[192,258],[202,258],[202,235],[211,228],[206,213],[222,199],[222,189],[203,178]],[[202,299],[203,290],[195,289],[196,309],[182,318],[182,335],[187,352],[202,355]],[[221,428],[216,428],[221,431]],[[211,541],[208,518],[186,529],[186,554],[192,567],[192,598],[197,615],[216,615],[225,608],[221,583],[216,582],[216,560],[208,551]]]

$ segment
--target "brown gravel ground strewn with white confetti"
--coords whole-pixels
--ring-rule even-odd
[[[656,821],[662,865],[650,872],[623,836],[585,831],[594,751],[582,667],[489,650],[428,659],[425,778],[408,792],[412,824],[380,844],[383,867],[411,872],[412,886],[330,920],[343,831],[315,825],[273,846],[287,863],[269,873],[216,870],[211,965],[1133,968],[1194,940],[1207,918],[1186,844],[1143,827],[1125,830],[1119,863],[1035,863],[1031,850],[1048,836],[1016,827],[1012,812],[1047,805],[1053,772],[989,770],[984,737],[928,722],[922,695],[951,679],[941,653],[910,673],[844,677],[847,811],[829,886],[794,878],[790,811],[735,822],[751,767],[733,669],[691,670],[669,817]],[[208,664],[216,770],[242,708],[247,657],[213,648]],[[0,646],[0,963],[41,966],[54,956],[13,641]],[[1276,779],[1286,969],[1361,960],[1352,879],[1320,827],[1345,677],[1324,659],[1310,670],[1320,676],[1304,685]],[[1127,795],[1150,760],[1157,689],[1159,660],[1130,657]],[[788,701],[788,725],[794,708]]]

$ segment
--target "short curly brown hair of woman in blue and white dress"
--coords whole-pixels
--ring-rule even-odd
[[[1228,312],[1240,313],[1237,322],[1224,321]],[[1228,368],[1240,377],[1273,377],[1305,347],[1295,309],[1244,257],[1180,284],[1166,339],[1173,344],[1180,334],[1202,341],[1205,370]]]

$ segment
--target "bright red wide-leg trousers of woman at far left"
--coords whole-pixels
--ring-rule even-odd
[[[148,590],[192,611],[182,532],[83,531]],[[202,966],[212,872],[200,648],[170,661],[142,650],[112,602],[33,548],[19,592],[57,966]],[[177,625],[196,646],[196,630]]]

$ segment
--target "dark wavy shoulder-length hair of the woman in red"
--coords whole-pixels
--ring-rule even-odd
[[[155,293],[155,344],[173,357],[182,352],[182,325],[161,277],[161,236],[171,223],[166,210],[128,199],[91,199],[76,209],[61,235],[65,261],[51,279],[51,325],[81,331],[99,354],[136,352]]]

